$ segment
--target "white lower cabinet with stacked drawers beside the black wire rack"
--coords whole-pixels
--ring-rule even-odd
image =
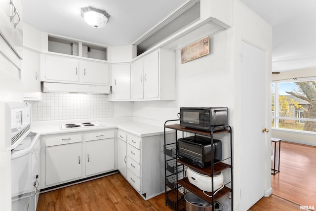
[[[163,135],[139,137],[118,129],[118,170],[145,200],[164,192]]]

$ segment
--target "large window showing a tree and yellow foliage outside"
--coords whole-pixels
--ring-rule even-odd
[[[316,78],[272,83],[272,127],[316,132]]]

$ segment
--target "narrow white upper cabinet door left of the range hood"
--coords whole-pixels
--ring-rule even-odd
[[[40,55],[27,48],[23,53],[21,81],[24,100],[40,100]]]

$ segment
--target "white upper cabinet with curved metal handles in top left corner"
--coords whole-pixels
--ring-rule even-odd
[[[23,28],[21,0],[0,0],[0,34],[15,54],[22,58]]]

